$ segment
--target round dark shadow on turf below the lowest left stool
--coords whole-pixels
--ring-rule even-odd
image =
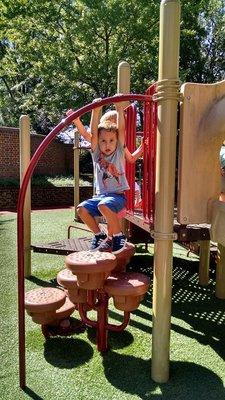
[[[44,357],[57,368],[71,369],[88,362],[93,357],[93,349],[81,339],[56,337],[46,340]]]

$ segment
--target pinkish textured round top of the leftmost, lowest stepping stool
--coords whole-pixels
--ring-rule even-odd
[[[63,290],[45,287],[30,290],[25,294],[25,308],[28,311],[44,312],[60,308],[66,300]]]

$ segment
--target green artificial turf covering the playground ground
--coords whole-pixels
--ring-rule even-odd
[[[66,237],[72,210],[32,213],[32,242]],[[85,232],[73,232],[79,236]],[[17,329],[16,216],[0,213],[0,399],[182,399],[224,400],[225,300],[215,298],[215,271],[207,288],[198,285],[198,258],[174,246],[170,380],[150,378],[152,290],[131,314],[122,333],[109,333],[110,350],[96,349],[95,331],[47,341],[26,317],[27,387],[19,389]],[[26,290],[54,285],[64,257],[32,254]],[[152,277],[153,246],[137,246],[129,270]],[[74,317],[77,316],[75,312]],[[93,318],[95,314],[91,314]],[[110,322],[121,313],[110,302]]]

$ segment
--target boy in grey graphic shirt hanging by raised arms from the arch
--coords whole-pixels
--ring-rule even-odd
[[[126,245],[126,237],[121,232],[117,213],[125,207],[125,191],[129,190],[125,176],[123,106],[122,103],[117,105],[118,128],[109,121],[98,126],[100,111],[101,108],[93,110],[90,137],[96,196],[80,203],[77,212],[94,233],[91,250],[118,254]],[[108,237],[95,220],[101,215],[107,221]]]

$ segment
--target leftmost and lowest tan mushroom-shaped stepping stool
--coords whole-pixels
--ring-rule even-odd
[[[63,290],[51,287],[38,288],[25,294],[25,309],[37,324],[57,324],[61,316],[60,312],[57,315],[56,311],[64,305],[65,301],[66,294]],[[69,304],[69,310],[71,310],[71,304]],[[63,315],[67,306],[62,309]],[[75,308],[74,305],[72,306]]]

